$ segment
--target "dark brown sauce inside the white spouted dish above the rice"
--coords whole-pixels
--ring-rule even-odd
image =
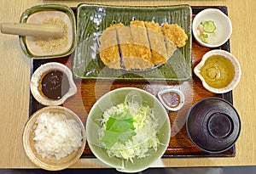
[[[41,91],[50,99],[60,99],[69,90],[68,77],[61,70],[49,70],[41,78]]]

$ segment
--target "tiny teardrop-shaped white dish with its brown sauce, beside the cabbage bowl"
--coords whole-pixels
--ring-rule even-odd
[[[182,91],[177,88],[162,90],[158,93],[160,102],[171,111],[177,111],[183,107],[185,97]]]

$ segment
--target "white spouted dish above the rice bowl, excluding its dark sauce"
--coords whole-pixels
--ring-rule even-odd
[[[40,81],[42,76],[44,76],[45,73],[49,72],[50,70],[60,70],[64,74],[66,74],[68,82],[69,82],[69,90],[67,93],[65,93],[61,98],[59,99],[51,99],[44,96],[43,92],[40,90]],[[62,65],[61,63],[57,62],[50,62],[44,65],[41,65],[38,67],[37,70],[32,75],[31,81],[30,81],[30,88],[32,92],[32,96],[36,98],[36,100],[40,104],[44,105],[60,105],[63,104],[67,98],[70,98],[75,93],[77,93],[77,87],[73,82],[73,74],[72,71],[67,68],[66,65]]]

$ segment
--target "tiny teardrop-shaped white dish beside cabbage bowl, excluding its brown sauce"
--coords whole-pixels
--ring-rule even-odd
[[[175,93],[178,96],[178,101],[173,101],[175,106],[171,106],[170,104],[167,104],[168,101],[166,101],[166,98],[170,100],[172,96],[170,96],[170,93]],[[168,95],[166,98],[164,97],[164,94]],[[166,107],[166,109],[171,110],[171,111],[177,111],[178,109],[181,109],[183,107],[183,104],[185,103],[185,97],[182,91],[180,91],[177,88],[170,88],[170,89],[165,89],[162,90],[158,93],[158,98],[160,99],[160,102]]]

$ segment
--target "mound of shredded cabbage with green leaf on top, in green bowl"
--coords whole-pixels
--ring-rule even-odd
[[[103,113],[100,143],[109,156],[133,162],[132,158],[148,156],[149,149],[157,150],[157,122],[153,109],[125,98]]]

